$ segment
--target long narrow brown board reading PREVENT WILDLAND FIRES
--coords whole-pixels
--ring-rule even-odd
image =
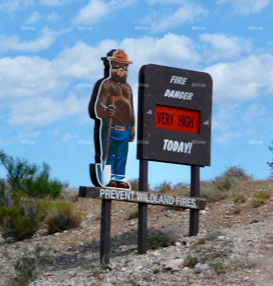
[[[80,187],[79,196],[153,204],[156,206],[171,206],[176,208],[205,209],[202,198],[174,196],[171,194],[138,192],[134,190],[117,190],[111,188]]]

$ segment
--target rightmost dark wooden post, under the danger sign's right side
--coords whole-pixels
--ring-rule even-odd
[[[191,166],[191,183],[190,196],[198,198],[200,193],[200,167],[197,165]],[[199,210],[190,209],[190,234],[189,236],[197,235],[199,223]]]

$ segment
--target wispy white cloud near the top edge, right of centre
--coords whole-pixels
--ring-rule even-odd
[[[161,19],[152,20],[152,31],[165,31],[168,28],[172,28],[184,23],[195,24],[196,21],[203,19],[208,14],[206,9],[203,9],[201,5],[193,3],[185,3],[178,7],[176,11],[168,14],[163,14]],[[152,17],[151,17],[152,18]],[[150,22],[150,19],[146,18],[146,21]]]

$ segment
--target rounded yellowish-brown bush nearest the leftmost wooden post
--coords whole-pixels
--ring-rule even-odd
[[[45,220],[47,231],[52,234],[78,227],[82,214],[72,202],[54,201]]]

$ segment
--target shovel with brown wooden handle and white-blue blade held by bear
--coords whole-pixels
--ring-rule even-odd
[[[114,103],[115,103],[115,96],[112,97],[111,105],[114,105]],[[106,148],[105,148],[105,153],[103,156],[103,162],[102,164],[96,164],[97,179],[99,180],[99,183],[104,187],[107,186],[109,182],[111,181],[111,173],[112,173],[112,166],[106,165],[108,153],[109,153],[109,146],[110,146],[112,121],[113,121],[113,117],[109,119],[107,139],[106,139]]]

